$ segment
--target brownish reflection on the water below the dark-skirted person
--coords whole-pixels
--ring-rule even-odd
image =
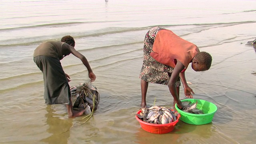
[[[72,119],[61,118],[60,114],[54,114],[51,109],[51,105],[46,107],[47,114],[46,124],[48,129],[46,132],[50,135],[47,138],[41,140],[41,142],[46,142],[48,144],[68,144],[68,138],[70,137],[70,129],[72,124]]]

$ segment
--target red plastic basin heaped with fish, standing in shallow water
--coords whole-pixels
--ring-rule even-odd
[[[172,111],[174,111],[174,110],[172,110]],[[140,112],[141,112],[141,110],[139,110],[137,112],[137,114],[140,114]],[[175,120],[174,122],[168,123],[168,124],[150,124],[148,122],[144,122],[144,121],[140,120],[140,118],[138,118],[137,115],[135,116],[135,118],[136,118],[136,120],[138,120],[138,122],[140,122],[140,126],[143,130],[153,133],[153,134],[166,134],[166,133],[174,130],[174,126],[179,121],[180,114],[178,112],[175,112],[175,113],[178,114],[177,120]]]

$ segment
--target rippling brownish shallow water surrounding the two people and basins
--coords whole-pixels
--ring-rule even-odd
[[[256,0],[0,0],[1,144],[253,143],[256,139]],[[212,123],[178,122],[168,134],[140,127],[143,40],[161,26],[213,57],[205,72],[186,71],[194,98],[218,106]],[[33,51],[43,41],[71,35],[97,76],[99,108],[86,123],[63,105],[44,104],[42,73]],[[62,61],[70,86],[88,82],[74,57]],[[149,84],[147,103],[172,106],[167,86]],[[181,99],[185,98],[181,90]]]

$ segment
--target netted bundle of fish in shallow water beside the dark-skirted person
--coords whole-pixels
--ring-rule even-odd
[[[91,84],[80,84],[70,87],[72,106],[74,109],[83,110],[86,115],[95,111],[100,101],[97,88]]]

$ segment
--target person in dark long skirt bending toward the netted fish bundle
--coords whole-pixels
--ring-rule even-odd
[[[73,110],[70,94],[70,76],[65,74],[60,60],[69,54],[79,58],[86,66],[91,82],[96,79],[95,74],[85,56],[74,49],[75,40],[72,36],[64,36],[61,41],[43,42],[34,50],[34,62],[44,76],[45,104],[66,104],[68,117],[74,118],[84,113]]]

